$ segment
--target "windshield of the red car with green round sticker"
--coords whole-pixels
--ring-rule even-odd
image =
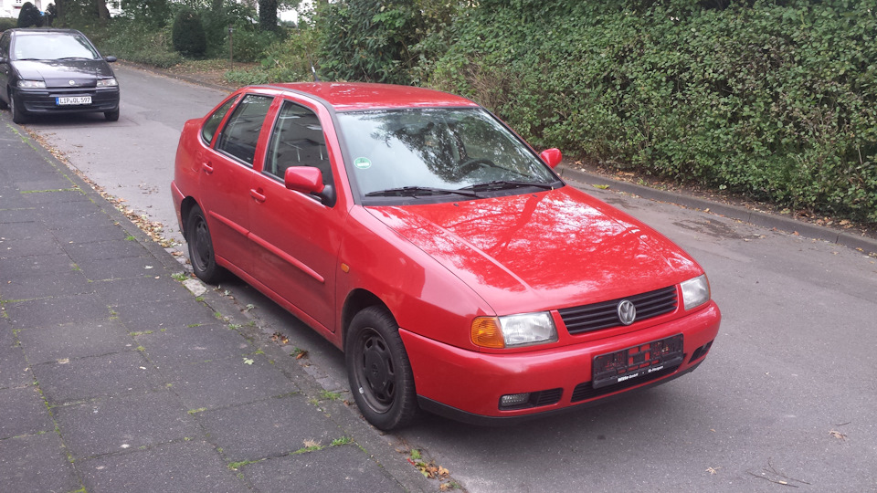
[[[554,173],[490,113],[478,108],[338,114],[364,196],[428,195],[553,184]],[[550,187],[549,187],[550,188]],[[464,194],[472,196],[471,193]]]

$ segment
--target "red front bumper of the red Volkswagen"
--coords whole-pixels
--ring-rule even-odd
[[[512,422],[592,404],[629,390],[669,382],[691,372],[710,349],[721,314],[712,301],[705,308],[627,334],[542,351],[483,353],[449,346],[400,330],[415,375],[421,407],[454,419],[486,424]],[[591,386],[594,357],[676,334],[684,357],[676,367],[600,389]],[[502,395],[551,393],[549,404],[502,410]]]

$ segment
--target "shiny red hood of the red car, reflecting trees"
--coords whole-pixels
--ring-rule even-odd
[[[368,210],[500,314],[617,299],[703,272],[670,240],[571,186]]]

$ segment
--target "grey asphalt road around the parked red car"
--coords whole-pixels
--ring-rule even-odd
[[[117,73],[120,121],[70,117],[27,128],[179,238],[169,192],[179,131],[225,93]],[[422,449],[470,492],[877,492],[877,260],[576,186],[656,227],[706,269],[724,315],[706,361],[674,382],[570,414],[499,428],[426,415],[387,439]],[[252,288],[222,289],[230,302],[253,305],[266,337],[280,331],[309,351],[309,371],[324,386],[346,387],[333,346]]]

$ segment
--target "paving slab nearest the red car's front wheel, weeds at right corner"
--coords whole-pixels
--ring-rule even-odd
[[[233,462],[283,456],[311,445],[329,446],[343,437],[343,431],[301,393],[205,411],[196,418],[210,441]]]

